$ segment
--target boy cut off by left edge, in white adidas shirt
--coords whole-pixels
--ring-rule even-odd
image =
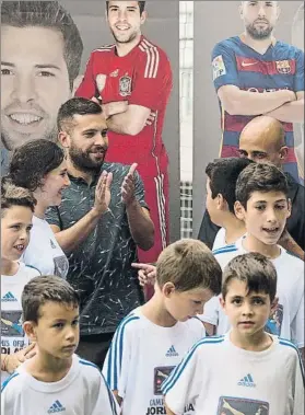
[[[35,199],[25,188],[1,183],[1,383],[34,356],[22,327],[21,293],[31,278],[40,275],[19,262],[30,241]]]

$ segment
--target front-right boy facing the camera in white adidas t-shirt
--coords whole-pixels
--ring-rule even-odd
[[[293,343],[265,331],[277,307],[277,272],[263,255],[238,255],[223,273],[232,330],[198,342],[162,384],[166,413],[304,415],[304,371]]]

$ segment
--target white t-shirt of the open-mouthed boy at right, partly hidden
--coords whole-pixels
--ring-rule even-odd
[[[244,237],[235,244],[213,251],[222,269],[237,255],[246,254],[243,246]],[[269,319],[266,331],[293,341],[297,347],[304,347],[304,262],[289,254],[281,247],[281,254],[271,260],[278,274],[277,297],[279,304]],[[216,326],[216,334],[230,330],[230,322],[222,310],[219,297],[213,297],[204,304],[203,314],[199,318]]]

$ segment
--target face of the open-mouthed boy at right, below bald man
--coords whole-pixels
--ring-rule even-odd
[[[254,192],[247,201],[247,210],[236,203],[236,216],[244,220],[247,233],[266,245],[278,243],[286,219],[291,214],[291,203],[281,192]]]

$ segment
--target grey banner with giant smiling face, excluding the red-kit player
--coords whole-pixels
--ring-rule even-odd
[[[22,3],[21,8],[19,3]],[[44,9],[47,3],[51,4]],[[105,19],[105,4],[101,0],[2,2],[2,174],[7,171],[10,151],[14,147],[35,138],[56,139],[58,108],[73,96],[90,53],[114,43]],[[146,11],[143,34],[167,54],[173,71],[174,87],[167,105],[163,140],[169,157],[171,239],[176,240],[179,238],[180,216],[179,3],[148,1]],[[50,28],[51,21],[56,30]],[[34,27],[22,27],[24,22]]]

